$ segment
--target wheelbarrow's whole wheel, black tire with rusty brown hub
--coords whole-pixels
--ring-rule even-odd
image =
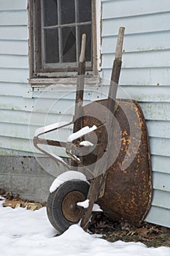
[[[77,203],[86,200],[89,184],[85,181],[72,180],[61,184],[47,199],[47,217],[56,230],[63,233],[69,226],[82,218],[82,211]]]

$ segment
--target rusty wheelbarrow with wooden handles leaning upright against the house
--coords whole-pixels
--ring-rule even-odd
[[[67,179],[56,178],[47,199],[47,216],[61,233],[77,222],[87,230],[94,203],[112,219],[135,226],[141,225],[150,209],[152,170],[142,109],[132,99],[116,99],[123,36],[124,28],[120,27],[108,98],[83,106],[86,36],[82,35],[74,118],[35,133],[34,146],[68,167],[68,172],[61,174]],[[41,138],[70,124],[73,133],[66,142]],[[71,165],[41,145],[66,148]],[[58,184],[58,180],[62,182]]]

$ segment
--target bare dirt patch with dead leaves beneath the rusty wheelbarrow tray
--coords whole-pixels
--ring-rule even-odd
[[[96,214],[89,227],[90,232],[102,234],[107,241],[142,242],[148,247],[170,246],[170,233],[163,227],[143,222],[132,227],[126,222],[114,222],[106,214]]]

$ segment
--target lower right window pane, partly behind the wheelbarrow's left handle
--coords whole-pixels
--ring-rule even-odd
[[[81,45],[82,34],[83,33],[86,34],[85,61],[91,61],[91,51],[92,51],[91,25],[80,26],[79,33],[80,33],[80,45]]]

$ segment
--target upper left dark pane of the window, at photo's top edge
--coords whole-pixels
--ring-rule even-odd
[[[58,24],[57,0],[44,0],[45,26]]]

